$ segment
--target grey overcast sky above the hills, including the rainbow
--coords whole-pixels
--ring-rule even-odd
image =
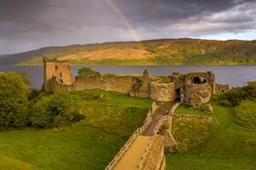
[[[177,37],[256,39],[256,0],[0,0],[0,54]]]

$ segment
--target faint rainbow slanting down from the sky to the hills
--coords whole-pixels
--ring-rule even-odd
[[[113,0],[108,0],[109,5],[113,10],[119,15],[119,17],[125,22],[125,25],[129,28],[131,33],[133,34],[133,37],[138,43],[139,48],[145,48],[142,39],[138,36],[136,29],[134,26],[132,26],[131,21],[125,16],[125,14],[122,12],[122,10],[119,8],[119,6],[113,2]]]

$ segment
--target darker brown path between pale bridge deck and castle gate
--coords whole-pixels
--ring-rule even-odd
[[[175,104],[175,101],[173,102],[166,102],[163,105],[160,105],[160,107],[154,111],[154,115],[152,117],[152,122],[148,126],[148,128],[143,133],[143,136],[153,136],[154,135],[154,127],[157,125],[157,123],[160,121],[160,119],[163,116],[168,115],[169,111],[172,108],[172,105]]]

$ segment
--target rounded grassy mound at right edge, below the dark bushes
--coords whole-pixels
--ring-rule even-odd
[[[241,101],[241,104],[234,109],[233,121],[241,127],[256,129],[255,105],[256,101]]]

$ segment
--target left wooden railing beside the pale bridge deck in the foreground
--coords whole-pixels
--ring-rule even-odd
[[[121,150],[119,150],[119,153],[116,156],[114,156],[113,160],[108,164],[108,167],[106,167],[105,170],[111,170],[111,169],[113,169],[113,167],[115,167],[117,165],[117,163],[120,161],[120,159],[125,155],[125,151],[128,150],[130,145],[137,138],[137,136],[139,135],[139,132],[140,132],[140,130],[139,130],[139,128],[137,128],[135,133],[133,133],[131,135],[131,138],[127,140],[125,145],[122,147]]]

